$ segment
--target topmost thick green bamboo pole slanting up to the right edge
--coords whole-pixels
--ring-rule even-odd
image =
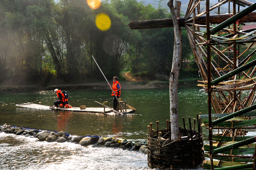
[[[227,26],[229,26],[230,24],[233,24],[234,22],[236,22],[237,20],[241,19],[242,17],[248,15],[249,13],[253,12],[256,8],[256,3],[254,3],[253,5],[249,6],[248,8],[245,8],[244,10],[242,10],[241,12],[237,13],[236,15],[230,17],[229,19],[227,19],[226,21],[224,21],[223,23],[217,25],[216,27],[210,29],[210,33],[211,34],[215,34],[218,31],[221,31],[221,29],[226,28]]]

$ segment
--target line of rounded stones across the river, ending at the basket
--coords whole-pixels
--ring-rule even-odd
[[[123,140],[113,137],[103,138],[98,136],[71,136],[63,131],[55,133],[48,132],[47,130],[25,129],[23,127],[10,126],[6,124],[0,125],[0,131],[8,134],[22,135],[24,137],[38,138],[38,141],[59,143],[72,142],[81,146],[97,145],[139,151],[142,153],[147,153],[148,151],[146,142],[133,142],[127,141],[126,139]]]

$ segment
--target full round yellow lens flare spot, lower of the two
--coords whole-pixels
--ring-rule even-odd
[[[96,16],[95,23],[101,31],[107,31],[111,26],[111,20],[105,13],[99,13]]]

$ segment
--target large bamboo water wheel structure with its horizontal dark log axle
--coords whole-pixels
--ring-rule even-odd
[[[228,11],[221,13],[222,7]],[[255,8],[248,0],[218,0],[212,6],[210,0],[190,0],[185,16],[177,18],[202,76],[198,86],[208,94],[208,114],[200,115],[209,132],[204,135],[204,169],[256,169],[256,138],[247,135],[256,128],[256,28],[242,29],[256,22]],[[128,25],[173,27],[172,19]]]

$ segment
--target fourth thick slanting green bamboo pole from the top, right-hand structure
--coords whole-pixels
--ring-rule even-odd
[[[213,154],[218,154],[221,153],[222,151],[226,151],[226,150],[231,150],[240,146],[244,146],[244,145],[248,145],[250,143],[255,142],[255,137],[249,138],[249,139],[245,139],[244,141],[240,141],[240,142],[236,142],[227,146],[223,146],[223,147],[219,147],[217,149],[214,149],[212,151]]]

